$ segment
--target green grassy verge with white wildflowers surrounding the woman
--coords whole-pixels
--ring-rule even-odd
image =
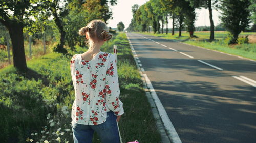
[[[105,43],[101,51],[113,53],[114,44],[118,46],[120,99],[125,111],[119,121],[123,142],[160,142],[161,137],[126,35],[119,33]],[[33,58],[27,62],[27,73],[17,72],[12,65],[0,69],[0,81],[3,83],[0,84],[2,142],[25,142],[26,138],[33,139],[33,142],[56,142],[57,137],[61,137],[62,142],[73,142],[71,131],[63,131],[71,130],[70,113],[75,99],[70,59],[72,55],[86,50],[77,46],[76,51],[69,50],[69,55],[48,53]],[[68,113],[63,112],[66,106]],[[51,114],[49,119],[48,113]],[[55,125],[51,127],[49,122]],[[60,131],[57,131],[59,128]],[[62,131],[64,135],[59,135]],[[37,135],[32,136],[31,133]],[[93,140],[100,142],[97,134]]]

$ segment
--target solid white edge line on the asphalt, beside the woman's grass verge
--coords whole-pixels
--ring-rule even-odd
[[[154,99],[154,102],[157,106],[157,110],[158,110],[159,115],[163,121],[165,129],[167,130],[167,135],[169,136],[170,140],[173,143],[181,143],[180,137],[177,134],[172,122],[170,121],[170,118],[168,117],[166,110],[163,107],[163,104],[159,100],[157,93],[156,93],[155,89],[153,88],[153,85],[150,82],[150,79],[148,79],[146,74],[143,74],[143,76],[146,80],[147,87],[150,89],[152,98]]]

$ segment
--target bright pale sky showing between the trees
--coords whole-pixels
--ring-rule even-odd
[[[113,12],[113,19],[108,20],[108,26],[111,28],[116,28],[117,24],[122,21],[126,29],[129,24],[131,23],[131,20],[133,18],[132,14],[132,6],[134,4],[143,5],[148,0],[117,0],[117,5],[111,6]],[[209,20],[209,11],[208,9],[197,9],[196,10],[197,17],[195,21],[195,26],[210,26],[210,20]],[[218,16],[220,15],[220,12],[213,10],[212,11],[213,19],[214,19],[214,25],[218,25],[220,23],[220,19]],[[172,19],[168,20],[168,28],[172,27]],[[160,24],[162,24],[160,22]],[[166,24],[164,25],[166,27]]]

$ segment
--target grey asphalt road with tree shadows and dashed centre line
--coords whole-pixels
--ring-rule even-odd
[[[127,36],[183,143],[256,142],[256,87],[247,80],[256,80],[255,61],[154,36]]]

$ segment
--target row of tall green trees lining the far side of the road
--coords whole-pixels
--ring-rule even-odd
[[[239,33],[245,30],[252,20],[254,20],[254,26],[256,25],[255,0],[150,0],[141,6],[137,4],[132,6],[133,19],[127,29],[145,32],[150,31],[150,26],[152,26],[154,33],[160,33],[161,21],[161,33],[166,24],[166,34],[168,34],[169,16],[173,19],[172,35],[177,27],[179,36],[181,36],[181,30],[185,28],[191,38],[196,37],[194,35],[195,9],[200,8],[209,10],[210,41],[214,40],[212,9],[221,10],[220,19],[232,35],[230,44],[236,43]]]

